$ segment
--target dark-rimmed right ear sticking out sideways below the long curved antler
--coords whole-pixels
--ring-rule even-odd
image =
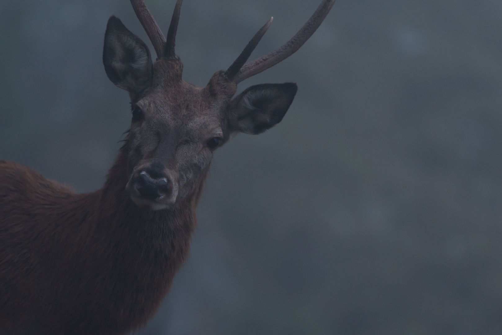
[[[274,127],[284,118],[297,90],[292,82],[247,88],[230,103],[231,131],[256,135]]]

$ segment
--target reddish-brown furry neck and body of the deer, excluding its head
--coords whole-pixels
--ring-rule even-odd
[[[127,149],[86,194],[0,162],[0,333],[120,334],[155,313],[188,254],[202,186],[170,211],[139,208],[124,191]]]

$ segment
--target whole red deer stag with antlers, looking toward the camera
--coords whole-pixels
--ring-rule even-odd
[[[297,51],[335,0],[323,0],[281,48],[247,62],[272,19],[206,87],[183,81],[175,54],[182,0],[167,40],[143,0],[131,0],[157,53],[112,16],[108,78],[131,97],[132,122],[103,188],[75,194],[0,161],[0,334],[124,334],[144,325],[185,260],[213,152],[232,133],[279,123],[294,83],[237,84]]]

